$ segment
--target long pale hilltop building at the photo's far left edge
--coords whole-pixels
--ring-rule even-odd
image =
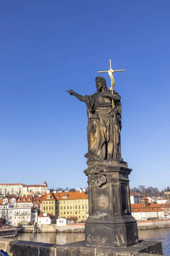
[[[20,195],[23,193],[23,183],[0,184],[0,194]]]

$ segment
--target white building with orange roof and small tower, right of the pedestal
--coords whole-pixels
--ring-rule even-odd
[[[141,199],[141,204],[131,204],[132,216],[137,221],[144,220],[154,220],[164,218],[164,210],[154,204],[152,207],[149,204],[148,198],[143,197]]]

